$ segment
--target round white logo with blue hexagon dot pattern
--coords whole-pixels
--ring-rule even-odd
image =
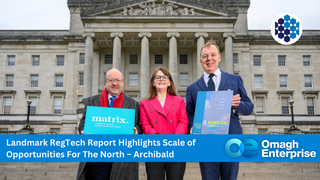
[[[294,14],[279,14],[271,23],[271,35],[280,44],[291,45],[298,41],[301,34],[301,21]]]

